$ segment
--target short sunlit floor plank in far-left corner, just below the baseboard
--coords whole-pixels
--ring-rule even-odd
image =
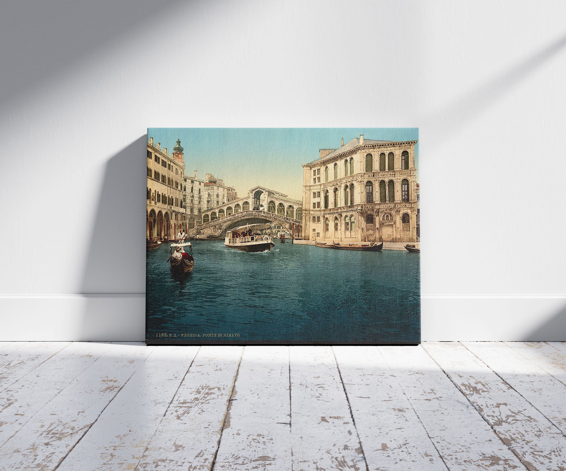
[[[70,344],[71,342],[27,342],[0,357],[0,392]]]

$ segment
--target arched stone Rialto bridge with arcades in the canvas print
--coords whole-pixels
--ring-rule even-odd
[[[302,237],[302,201],[286,194],[255,186],[247,196],[215,206],[203,212],[203,223],[189,234],[221,235],[231,227],[271,222],[294,229],[295,236]]]

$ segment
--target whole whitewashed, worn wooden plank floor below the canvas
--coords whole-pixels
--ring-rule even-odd
[[[566,469],[566,343],[0,342],[3,470]]]

